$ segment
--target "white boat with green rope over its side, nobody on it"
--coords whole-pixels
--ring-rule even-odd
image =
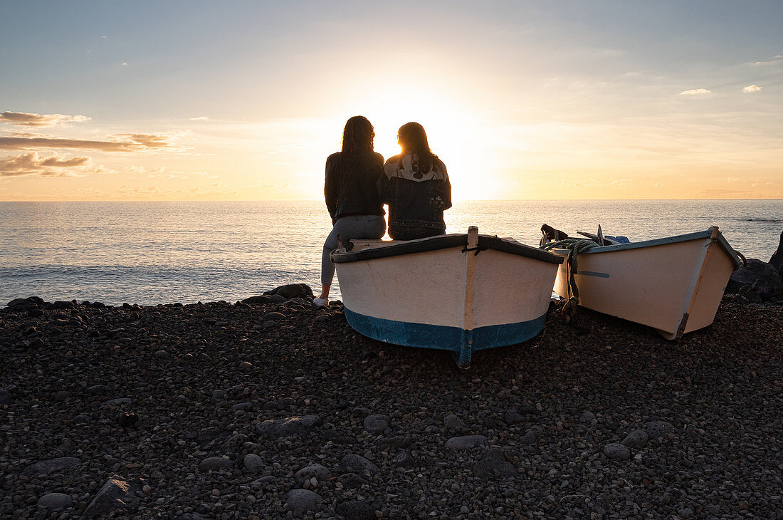
[[[568,255],[568,250],[552,249]],[[741,261],[717,227],[677,237],[594,247],[576,256],[579,305],[657,329],[666,339],[713,323]],[[570,267],[554,291],[569,298]]]

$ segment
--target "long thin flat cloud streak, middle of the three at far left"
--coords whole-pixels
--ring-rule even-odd
[[[133,152],[171,146],[168,134],[122,134],[123,140],[54,139],[49,137],[0,137],[0,150],[33,150],[35,148],[68,148],[102,152]]]

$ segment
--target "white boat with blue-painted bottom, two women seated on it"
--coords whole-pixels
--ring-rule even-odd
[[[477,350],[539,333],[563,262],[474,226],[420,240],[352,240],[331,258],[351,327],[395,345],[453,351],[460,367]]]

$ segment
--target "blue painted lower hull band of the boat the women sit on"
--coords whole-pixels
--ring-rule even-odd
[[[460,367],[466,367],[471,363],[473,352],[477,350],[516,345],[529,340],[541,331],[547,314],[544,313],[535,320],[490,325],[473,330],[384,320],[365,316],[348,308],[345,308],[345,319],[351,327],[368,338],[394,345],[450,350],[456,363]]]

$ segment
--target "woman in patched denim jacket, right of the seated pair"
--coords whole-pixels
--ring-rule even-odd
[[[389,205],[389,237],[415,240],[446,233],[443,211],[451,208],[451,184],[446,164],[432,153],[424,127],[406,123],[399,128],[400,155],[390,157],[378,183]]]

